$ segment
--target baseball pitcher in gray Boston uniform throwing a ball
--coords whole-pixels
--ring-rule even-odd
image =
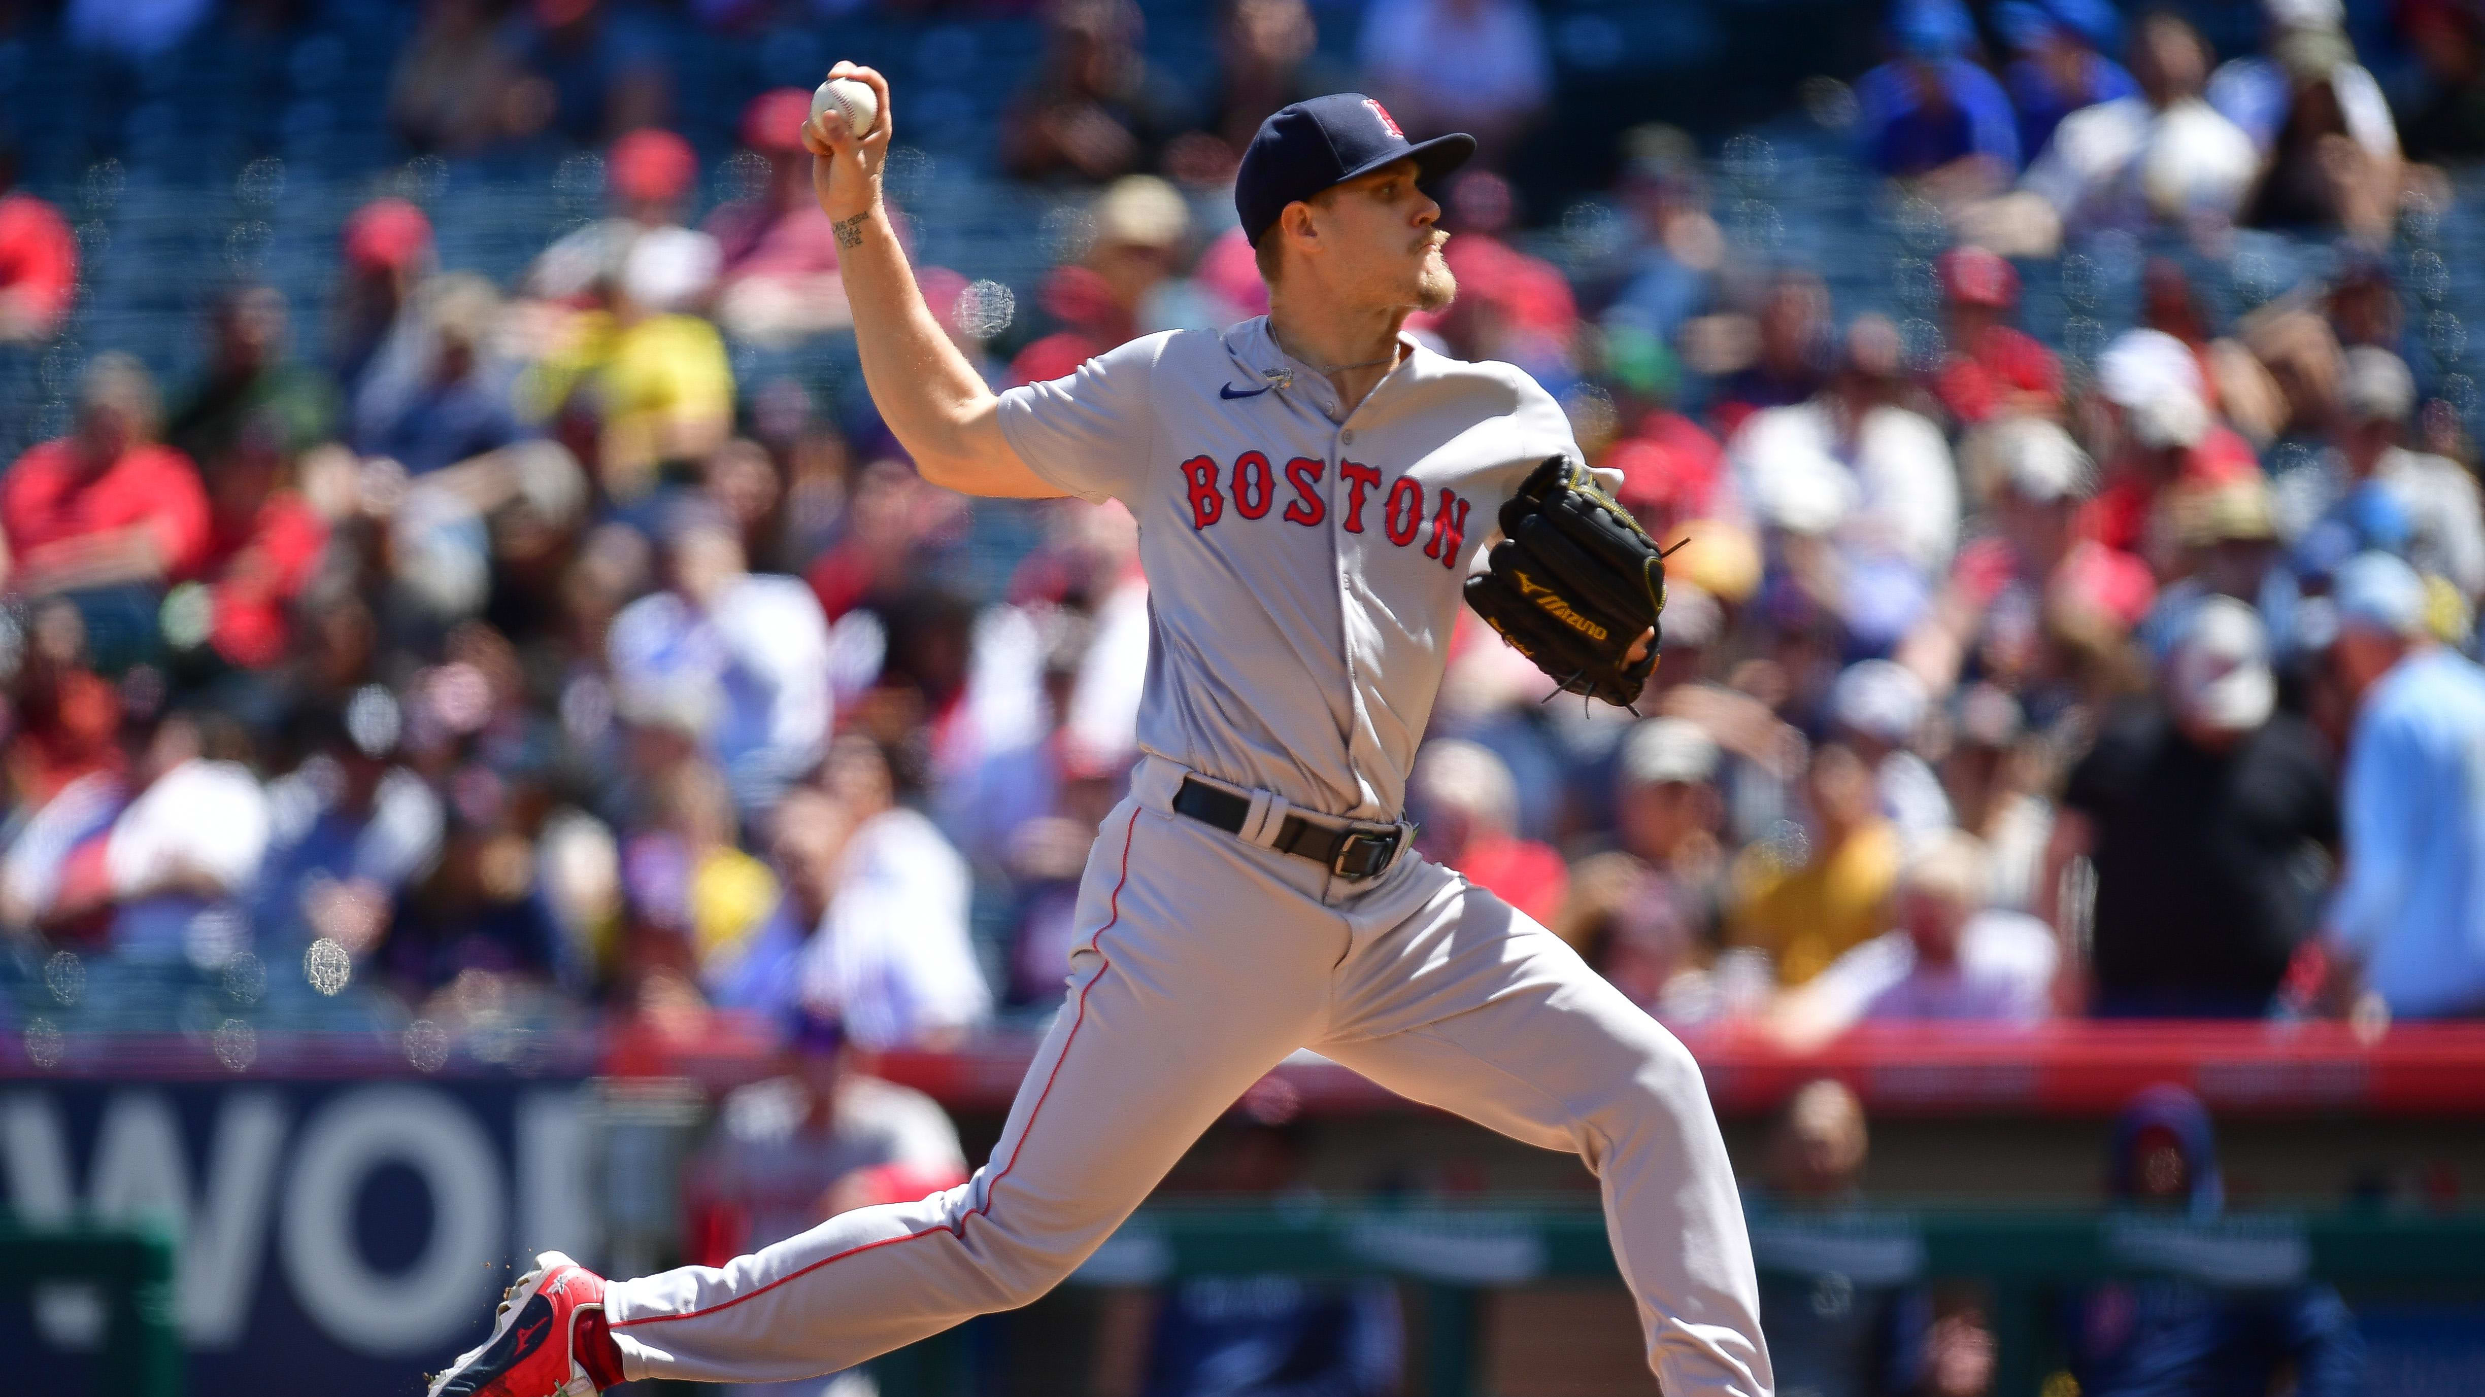
[[[890,430],[952,490],[1121,500],[1141,522],[1143,758],[1088,855],[1069,999],[964,1186],[723,1268],[604,1280],[544,1253],[430,1395],[790,1380],[1026,1305],[1312,1047],[1585,1158],[1665,1392],[1767,1397],[1752,1250],[1692,1056],[1551,932],[1414,855],[1402,820],[1461,597],[1615,703],[1655,666],[1662,607],[1655,544],[1543,388],[1402,336],[1456,291],[1426,189],[1474,139],[1411,144],[1352,92],[1285,107],[1235,176],[1265,318],[994,395],[890,229],[887,82],[840,75],[877,92],[877,122],[815,119],[805,142]]]

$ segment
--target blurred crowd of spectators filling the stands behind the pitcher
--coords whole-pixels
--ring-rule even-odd
[[[0,477],[22,957],[251,950],[442,1019],[748,1009],[872,1049],[1059,999],[1133,758],[1136,524],[929,487],[785,368],[850,343],[808,92],[750,97],[753,179],[701,209],[629,15],[440,0],[390,85],[408,149],[599,147],[601,219],[495,283],[375,199],[323,306],[229,286],[184,383],[94,355]],[[1044,380],[1265,311],[1223,181],[1277,104],[1362,85],[1484,137],[1439,191],[1461,296],[1411,333],[1533,373],[1685,547],[1638,711],[1548,703],[1461,619],[1411,783],[1431,858],[1660,1019],[1794,1047],[2485,1012],[2475,383],[2423,311],[2485,20],[2351,37],[2269,0],[2217,55],[2105,0],[1901,0],[1886,62],[1807,102],[1916,221],[1904,326],[1732,236],[1749,209],[1667,127],[1618,137],[1623,234],[1541,256],[1506,176],[1553,102],[1526,0],[1374,0],[1337,67],[1315,20],[1233,0],[1218,85],[1178,92],[1128,2],[1044,7],[994,162],[1078,236],[1024,308],[919,273],[994,385]],[[2301,273],[2209,293],[2249,259]],[[75,261],[0,199],[0,336],[40,343]],[[2025,318],[2023,286],[2117,276],[2127,323]]]

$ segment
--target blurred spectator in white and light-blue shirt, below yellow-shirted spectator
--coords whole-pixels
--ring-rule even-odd
[[[828,743],[828,626],[810,589],[753,574],[716,510],[683,502],[663,537],[666,587],[611,621],[624,711],[683,701],[708,716],[703,746],[746,813],[765,810]]]

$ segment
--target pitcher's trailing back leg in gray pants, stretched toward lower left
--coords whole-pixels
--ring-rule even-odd
[[[611,1283],[629,1377],[810,1377],[1026,1305],[1315,1032],[1344,930],[1287,917],[1245,860],[1200,858],[1205,840],[1165,825],[1123,805],[1096,840],[1078,910],[1093,950],[1074,957],[1071,999],[992,1161],[922,1203],[857,1208],[723,1268]]]

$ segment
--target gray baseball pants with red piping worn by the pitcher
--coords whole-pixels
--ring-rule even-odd
[[[1026,1305],[1300,1047],[1511,1138],[1573,1151],[1670,1397],[1767,1397],[1759,1285],[1692,1056],[1553,932],[1402,855],[1347,882],[1175,815],[1141,763],[1078,900],[1069,1002],[992,1161],[723,1268],[604,1293],[629,1377],[768,1382],[852,1367]]]

